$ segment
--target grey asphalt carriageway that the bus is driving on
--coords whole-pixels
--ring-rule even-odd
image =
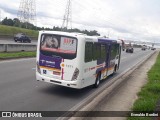
[[[133,54],[122,52],[116,75],[152,52],[140,49]],[[68,111],[116,76],[103,81],[97,89],[76,90],[36,81],[35,64],[35,58],[0,61],[0,111]]]

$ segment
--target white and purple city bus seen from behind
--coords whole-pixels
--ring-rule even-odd
[[[40,31],[36,80],[75,89],[98,87],[119,69],[120,44],[82,33]]]

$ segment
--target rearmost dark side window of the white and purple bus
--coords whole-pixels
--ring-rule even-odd
[[[93,43],[86,42],[85,44],[85,62],[92,61],[92,56],[93,56]]]

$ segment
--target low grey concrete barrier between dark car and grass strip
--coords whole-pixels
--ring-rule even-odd
[[[36,48],[32,44],[0,44],[0,52],[36,51]]]

